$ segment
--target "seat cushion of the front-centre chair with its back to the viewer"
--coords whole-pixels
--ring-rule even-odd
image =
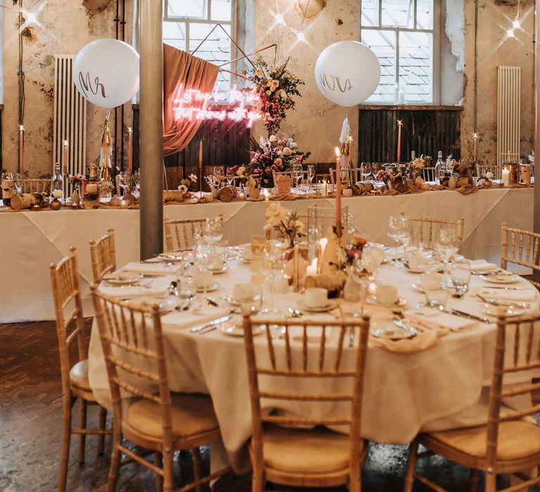
[[[264,466],[278,472],[328,474],[349,467],[349,436],[326,427],[304,430],[266,425],[262,439]]]

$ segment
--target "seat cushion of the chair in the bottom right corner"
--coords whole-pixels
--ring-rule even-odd
[[[430,432],[432,439],[477,458],[486,456],[487,426],[470,427],[443,432]],[[540,427],[531,422],[516,420],[499,424],[497,459],[518,460],[540,453]]]

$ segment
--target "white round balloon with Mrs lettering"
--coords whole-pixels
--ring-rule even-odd
[[[380,80],[380,63],[359,41],[338,41],[325,48],[315,64],[319,91],[333,103],[350,108],[366,101]]]

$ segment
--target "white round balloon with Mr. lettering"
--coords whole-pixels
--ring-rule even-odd
[[[139,91],[139,53],[118,39],[96,39],[73,61],[73,81],[92,104],[116,108]]]

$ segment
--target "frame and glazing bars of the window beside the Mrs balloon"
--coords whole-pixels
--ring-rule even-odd
[[[413,4],[413,27],[387,27],[384,26],[382,23],[383,18],[383,0],[377,0],[378,1],[378,14],[377,14],[377,25],[362,25],[362,0],[360,0],[360,15],[359,15],[359,34],[360,34],[360,41],[362,41],[362,31],[363,30],[369,30],[369,31],[390,31],[394,32],[394,41],[395,41],[395,49],[394,49],[394,85],[399,84],[399,33],[400,32],[425,32],[428,34],[432,34],[432,88],[431,88],[431,102],[426,103],[425,101],[421,101],[418,99],[417,101],[408,101],[408,104],[418,104],[421,103],[423,105],[438,105],[440,101],[440,58],[441,58],[441,25],[442,25],[442,0],[432,0],[433,6],[432,6],[432,29],[418,29],[416,26],[418,25],[417,20],[417,11],[418,11],[418,0],[410,0],[410,2]],[[368,103],[364,103],[367,105],[373,104],[373,105],[380,105],[381,103],[385,105],[399,105],[395,101],[394,103],[387,103],[386,101],[380,100],[380,101],[370,101]]]

